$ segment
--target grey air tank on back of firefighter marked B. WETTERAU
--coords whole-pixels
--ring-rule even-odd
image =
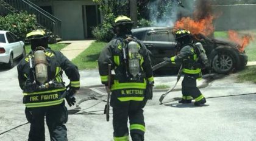
[[[136,77],[140,73],[141,55],[139,49],[140,46],[135,41],[130,41],[128,44],[129,72],[133,77]]]

